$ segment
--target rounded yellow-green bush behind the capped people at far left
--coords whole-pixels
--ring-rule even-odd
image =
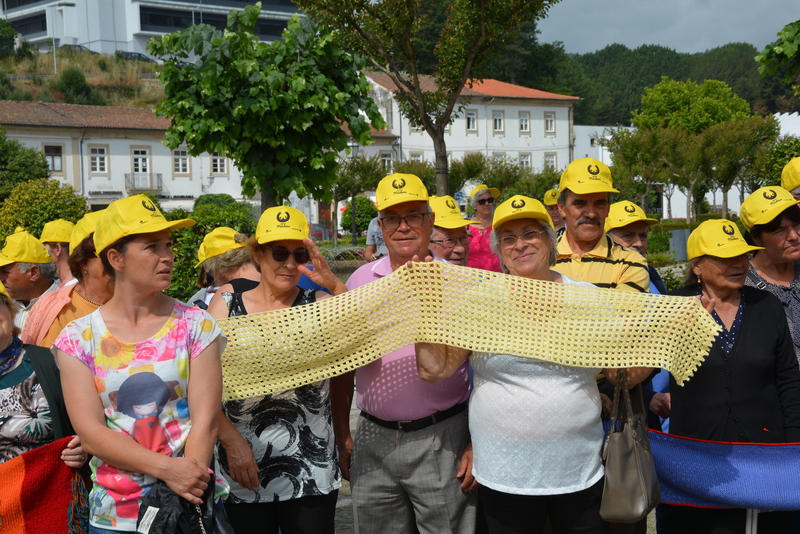
[[[17,226],[41,235],[45,223],[55,219],[77,222],[86,211],[86,200],[69,185],[48,179],[21,183],[0,207],[0,241]]]

